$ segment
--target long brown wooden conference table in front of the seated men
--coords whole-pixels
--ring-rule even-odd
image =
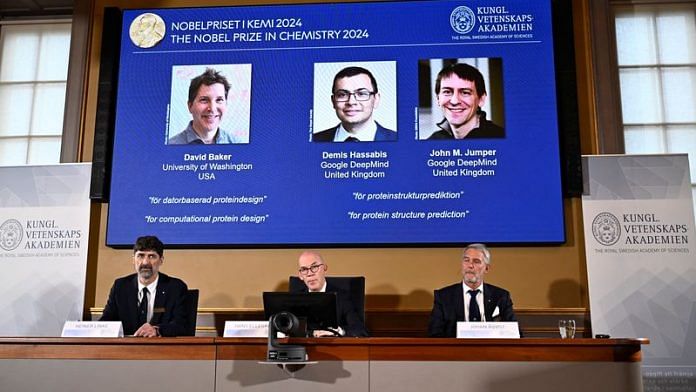
[[[647,339],[0,338],[1,391],[642,391]]]

